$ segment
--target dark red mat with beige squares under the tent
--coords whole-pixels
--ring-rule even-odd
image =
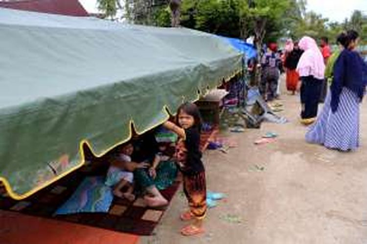
[[[69,199],[85,177],[86,175],[79,172],[73,172],[22,201],[15,201],[2,195],[0,197],[0,209],[135,235],[151,235],[153,233],[167,206],[159,210],[149,208],[144,206],[141,198],[133,203],[115,198],[108,213],[78,213],[53,216],[56,209]],[[162,195],[168,201],[171,201],[179,185],[180,182],[176,181],[169,188],[162,190]]]

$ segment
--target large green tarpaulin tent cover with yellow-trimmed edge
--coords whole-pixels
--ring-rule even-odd
[[[23,199],[241,68],[222,39],[0,8],[0,181]]]

